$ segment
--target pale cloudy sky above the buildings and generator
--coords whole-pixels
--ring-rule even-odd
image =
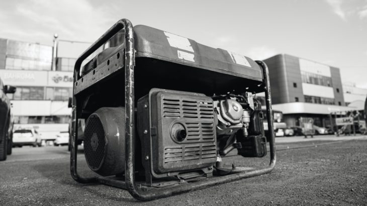
[[[285,53],[324,63],[367,88],[367,0],[0,0],[0,38],[94,42],[122,18],[254,60]],[[60,42],[59,56],[88,46]]]

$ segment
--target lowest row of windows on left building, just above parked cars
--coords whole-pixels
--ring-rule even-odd
[[[68,124],[70,116],[14,116],[15,124]]]

